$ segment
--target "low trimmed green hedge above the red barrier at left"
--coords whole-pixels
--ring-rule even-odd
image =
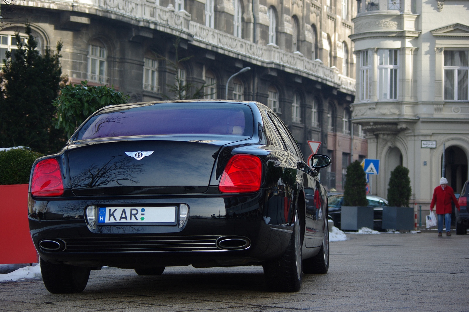
[[[0,151],[0,185],[28,184],[32,163],[41,156],[23,148]]]

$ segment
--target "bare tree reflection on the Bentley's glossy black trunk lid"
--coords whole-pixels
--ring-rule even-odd
[[[73,177],[72,188],[93,188],[107,185],[115,182],[123,185],[121,181],[130,181],[138,183],[133,180],[134,175],[143,173],[142,164],[135,164],[130,158],[113,161],[116,157],[123,155],[112,156],[109,161],[104,165],[98,166],[95,163],[90,167],[83,170],[79,175]]]

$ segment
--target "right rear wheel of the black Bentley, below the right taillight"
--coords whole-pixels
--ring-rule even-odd
[[[266,262],[265,283],[270,291],[294,292],[301,288],[303,281],[302,239],[298,211],[295,211],[293,234],[287,251],[278,260]]]

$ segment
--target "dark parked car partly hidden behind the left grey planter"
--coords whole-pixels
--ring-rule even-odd
[[[387,207],[387,200],[379,196],[367,195],[368,207],[373,207],[373,229],[382,230],[383,207]],[[334,221],[334,226],[340,228],[340,216],[342,205],[344,204],[344,194],[336,194],[328,197],[329,215]]]

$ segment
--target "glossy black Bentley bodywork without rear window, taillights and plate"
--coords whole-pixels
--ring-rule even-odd
[[[185,101],[184,103],[186,103]],[[191,105],[207,101],[194,101]],[[315,256],[323,242],[327,194],[293,140],[282,137],[284,127],[267,107],[256,102],[207,102],[244,105],[252,111],[252,136],[227,134],[168,134],[96,137],[74,140],[48,158],[58,160],[64,192],[35,197],[29,193],[29,222],[41,259],[75,266],[240,266],[279,258],[292,236],[295,209],[303,222],[303,259]],[[133,103],[103,111],[158,106]],[[167,102],[161,104],[167,105]],[[85,122],[86,123],[86,122]],[[280,125],[281,123],[281,125]],[[83,127],[83,125],[82,125]],[[249,128],[249,127],[248,127]],[[82,131],[83,132],[83,131]],[[234,131],[233,131],[234,132]],[[152,151],[136,160],[126,152]],[[262,163],[261,188],[253,193],[222,193],[219,180],[235,154],[257,155]],[[32,178],[31,173],[31,178]],[[109,224],[92,228],[86,208],[189,207],[178,224]],[[225,238],[244,240],[225,248]],[[53,240],[60,247],[46,250],[39,243]]]

